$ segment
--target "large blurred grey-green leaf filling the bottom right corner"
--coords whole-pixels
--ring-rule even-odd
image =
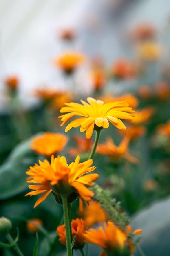
[[[170,255],[170,197],[139,211],[131,225],[143,230],[140,247],[145,255]],[[137,249],[133,254],[141,255]]]

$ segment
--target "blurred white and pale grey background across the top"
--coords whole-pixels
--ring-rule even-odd
[[[168,19],[170,0],[0,0],[1,91],[4,78],[13,74],[20,78],[20,97],[28,105],[35,88],[64,88],[62,74],[53,66],[65,47],[58,38],[62,28],[77,31],[77,51],[102,56],[109,65],[128,56],[125,35],[130,28],[151,22],[162,29]],[[88,87],[86,68],[80,75],[82,86]],[[2,108],[2,95],[0,102]]]

